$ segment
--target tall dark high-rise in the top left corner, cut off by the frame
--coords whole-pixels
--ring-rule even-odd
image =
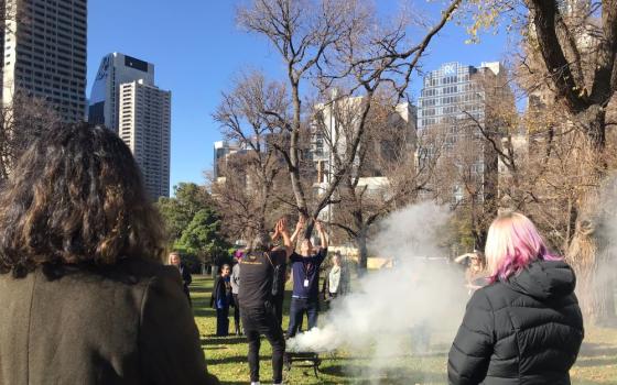
[[[87,0],[3,3],[2,105],[24,92],[46,99],[66,122],[83,121]]]

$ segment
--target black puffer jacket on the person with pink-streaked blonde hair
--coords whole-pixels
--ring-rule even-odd
[[[450,350],[450,384],[570,384],[583,341],[575,284],[564,262],[539,261],[477,290]]]

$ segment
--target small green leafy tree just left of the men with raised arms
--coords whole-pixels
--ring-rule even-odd
[[[223,235],[220,217],[212,208],[197,211],[182,232],[178,244],[216,265],[228,262],[227,251],[231,246]]]

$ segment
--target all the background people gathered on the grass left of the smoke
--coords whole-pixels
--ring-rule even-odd
[[[314,248],[310,239],[304,239],[296,252],[293,244],[304,226],[305,220],[301,217],[295,231],[290,235],[286,220],[279,220],[271,235],[259,233],[247,250],[235,253],[232,267],[228,264],[220,266],[213,285],[210,307],[216,310],[216,336],[228,336],[229,310],[232,307],[236,334],[245,334],[249,344],[248,362],[253,384],[259,383],[261,336],[272,345],[274,384],[282,381],[285,349],[282,321],[288,265],[293,279],[293,292],[286,338],[293,338],[297,333],[304,316],[307,318],[308,329],[317,326],[320,293],[324,300],[329,301],[349,292],[348,272],[344,268],[338,252],[333,255],[332,267],[327,271],[320,292],[320,272],[327,256],[328,238],[323,224],[315,221],[320,248]],[[281,245],[275,244],[279,239],[282,239]],[[170,264],[175,265],[181,273],[187,272],[175,252],[170,255]],[[191,280],[184,279],[184,284],[187,287]],[[190,298],[188,289],[186,293]]]

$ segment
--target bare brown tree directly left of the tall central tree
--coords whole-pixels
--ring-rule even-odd
[[[286,139],[271,130],[262,113],[284,114],[289,99],[282,84],[268,82],[257,72],[240,77],[221,98],[213,117],[224,138],[239,148],[218,165],[221,178],[213,182],[213,193],[232,235],[250,237],[266,230],[275,208],[291,200],[281,180],[284,162],[274,150]]]

